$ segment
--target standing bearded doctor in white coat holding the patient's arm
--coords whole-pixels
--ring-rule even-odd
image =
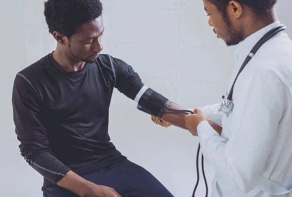
[[[292,41],[279,31],[250,53],[269,31],[281,29],[275,3],[203,0],[217,37],[227,46],[237,45],[224,102],[184,117],[216,171],[212,197],[292,197]],[[221,135],[208,118],[222,126]],[[152,120],[177,125],[163,117]]]

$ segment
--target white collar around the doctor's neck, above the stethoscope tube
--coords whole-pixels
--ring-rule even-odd
[[[274,23],[258,30],[257,32],[248,36],[245,40],[240,42],[237,45],[236,50],[234,52],[234,56],[236,58],[236,61],[241,60],[242,58],[245,58],[262,36],[264,36],[267,32],[269,32],[274,27],[276,27],[280,24],[281,23],[277,20]]]

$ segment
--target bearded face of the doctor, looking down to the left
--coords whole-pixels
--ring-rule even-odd
[[[232,14],[228,12],[220,12],[215,4],[210,0],[203,0],[204,9],[209,17],[209,25],[213,28],[213,32],[218,38],[221,38],[227,46],[237,45],[243,40],[243,34],[238,31],[237,26],[232,20]]]

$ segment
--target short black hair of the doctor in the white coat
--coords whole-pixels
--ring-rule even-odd
[[[213,3],[219,12],[226,13],[226,7],[231,0],[208,0]],[[238,3],[245,4],[252,8],[259,17],[272,10],[277,0],[235,0]]]

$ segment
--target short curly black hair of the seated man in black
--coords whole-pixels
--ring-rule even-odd
[[[100,0],[47,0],[44,15],[49,32],[70,38],[81,26],[102,15]]]

